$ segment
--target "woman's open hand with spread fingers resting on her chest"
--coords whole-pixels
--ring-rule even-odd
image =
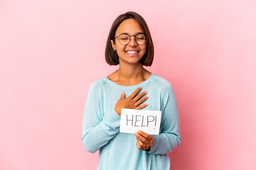
[[[130,109],[145,108],[147,106],[146,103],[141,106],[139,106],[139,105],[141,103],[143,103],[144,101],[146,101],[149,97],[145,96],[147,93],[146,91],[139,94],[139,91],[141,91],[141,90],[142,90],[142,87],[139,87],[127,98],[125,98],[125,94],[124,94],[124,92],[122,92],[121,97],[119,98],[116,106],[114,107],[114,111],[116,111],[118,115],[121,115],[121,108],[130,108]],[[143,96],[145,96],[145,97],[142,98]]]

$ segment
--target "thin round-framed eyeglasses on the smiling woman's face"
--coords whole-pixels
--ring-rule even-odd
[[[114,39],[118,38],[120,44],[127,45],[131,42],[131,37],[135,37],[135,41],[138,45],[144,45],[146,43],[146,36],[143,33],[139,33],[137,35],[128,35],[127,33],[122,33]]]

